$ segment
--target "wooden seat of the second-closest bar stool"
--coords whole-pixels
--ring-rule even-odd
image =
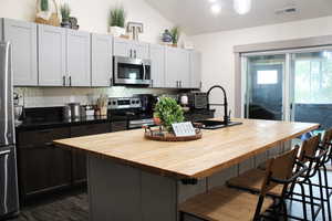
[[[229,179],[227,186],[258,193],[263,185],[264,177],[266,171],[261,169],[250,169],[238,177]],[[277,185],[268,192],[268,194],[280,197],[282,188],[282,185]]]

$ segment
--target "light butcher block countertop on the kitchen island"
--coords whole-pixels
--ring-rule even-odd
[[[201,179],[319,127],[308,123],[232,120],[243,124],[203,130],[203,138],[195,141],[147,140],[143,129],[135,129],[54,140],[54,144],[160,176]]]

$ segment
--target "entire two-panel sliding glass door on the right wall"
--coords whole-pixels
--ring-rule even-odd
[[[332,50],[242,55],[243,116],[332,127]]]

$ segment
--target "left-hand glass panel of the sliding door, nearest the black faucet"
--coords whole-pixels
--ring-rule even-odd
[[[248,118],[283,119],[284,64],[284,54],[248,57]]]

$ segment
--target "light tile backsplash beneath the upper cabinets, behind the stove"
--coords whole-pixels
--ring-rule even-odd
[[[14,92],[22,97],[20,105],[24,105],[25,107],[51,107],[63,106],[65,103],[71,102],[91,104],[101,95],[107,95],[108,97],[127,97],[134,94],[176,94],[179,91],[113,86],[105,88],[15,87]]]

